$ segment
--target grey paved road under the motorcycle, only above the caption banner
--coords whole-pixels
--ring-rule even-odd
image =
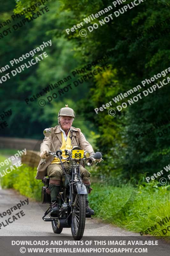
[[[26,196],[18,195],[15,190],[0,190],[0,213],[6,212],[8,209],[17,205],[20,200],[25,200]],[[18,218],[6,227],[0,229],[0,236],[71,236],[70,228],[63,228],[61,235],[53,233],[51,222],[44,222],[42,216],[47,209],[48,204],[41,204],[29,199],[29,204],[23,205],[20,210],[12,212],[11,216],[19,211],[25,213],[25,216]],[[7,220],[10,215],[0,218],[0,222]],[[24,228],[23,228],[24,227]],[[133,236],[135,233],[114,227],[99,220],[87,220],[85,224],[85,236]]]

